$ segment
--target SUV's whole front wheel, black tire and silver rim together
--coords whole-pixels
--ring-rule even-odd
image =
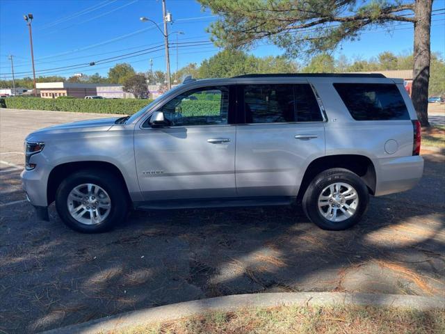
[[[127,193],[113,173],[82,170],[60,183],[56,209],[64,223],[74,230],[104,232],[125,220]]]

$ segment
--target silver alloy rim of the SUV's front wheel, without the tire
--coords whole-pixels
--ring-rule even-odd
[[[79,184],[68,194],[67,207],[72,218],[79,223],[97,225],[110,214],[111,198],[97,184]]]

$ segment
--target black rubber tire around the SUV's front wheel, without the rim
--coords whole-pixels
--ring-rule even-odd
[[[111,199],[111,209],[104,221],[95,225],[86,225],[76,221],[68,209],[67,198],[70,191],[80,184],[96,184],[100,186]],[[111,230],[127,218],[129,198],[125,185],[115,174],[106,170],[85,169],[72,173],[63,180],[56,191],[56,209],[62,221],[73,230],[83,233],[99,233]]]

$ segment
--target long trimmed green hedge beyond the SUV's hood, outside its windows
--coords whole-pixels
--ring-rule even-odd
[[[3,100],[3,102],[2,102]],[[74,111],[76,113],[136,113],[152,100],[136,99],[42,99],[41,97],[8,97],[0,99],[0,107],[11,109],[35,109]]]

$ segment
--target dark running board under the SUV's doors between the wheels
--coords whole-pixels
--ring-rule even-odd
[[[152,209],[196,209],[205,207],[259,207],[264,205],[290,205],[296,197],[249,197],[249,198],[193,198],[189,200],[151,200],[135,202],[133,207],[141,210]]]

